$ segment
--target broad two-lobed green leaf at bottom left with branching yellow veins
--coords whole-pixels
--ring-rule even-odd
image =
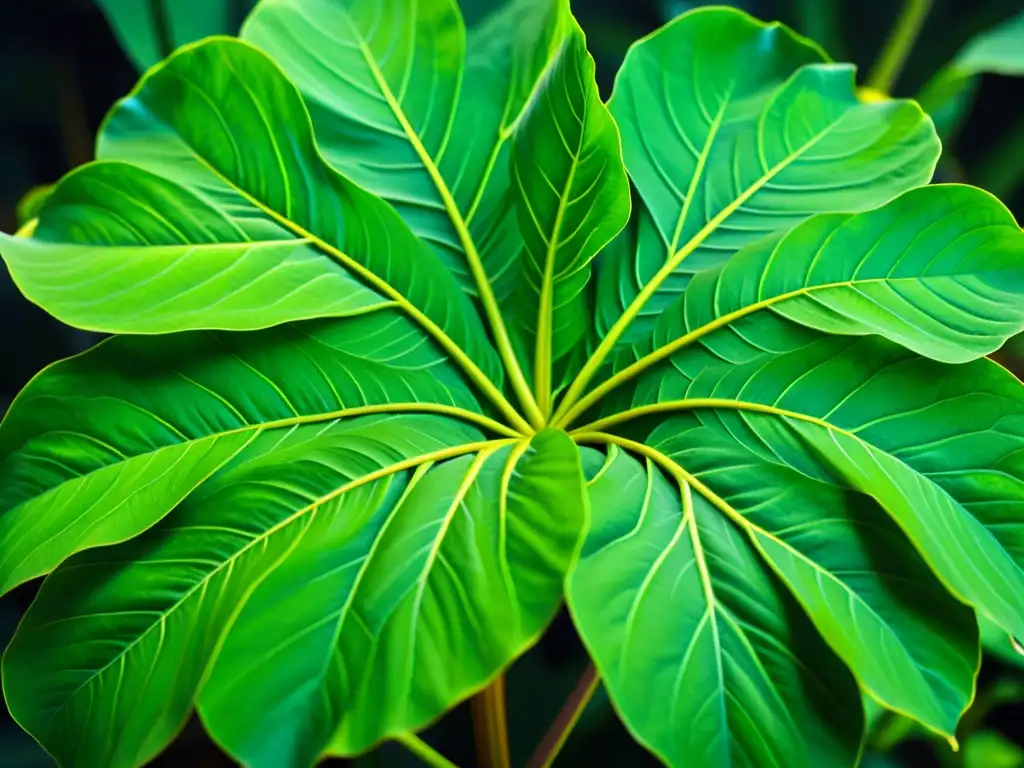
[[[487,441],[435,416],[267,432],[142,537],[56,570],[5,691],[76,765],[145,762],[197,695],[247,764],[359,752],[537,638],[584,510],[564,433]]]

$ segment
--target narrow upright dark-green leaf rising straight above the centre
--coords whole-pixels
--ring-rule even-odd
[[[589,332],[590,262],[630,217],[618,131],[578,27],[515,130],[511,168],[526,243],[512,313],[524,346],[535,350],[535,393],[549,414],[561,384],[553,371],[564,371],[559,364],[580,351]]]

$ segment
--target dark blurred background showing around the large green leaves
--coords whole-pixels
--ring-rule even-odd
[[[472,20],[498,2],[464,0],[463,7]],[[597,60],[603,92],[610,91],[615,69],[633,40],[699,4],[573,0],[573,10]],[[790,24],[816,39],[837,60],[857,63],[861,73],[874,60],[901,5],[898,0],[745,0],[729,4],[765,19]],[[234,0],[232,12],[241,18],[251,5],[251,0]],[[1022,8],[1024,0],[937,0],[895,95],[912,95],[970,37]],[[71,168],[91,160],[99,122],[136,78],[135,68],[94,0],[0,0],[0,230],[17,227],[16,206],[29,189],[52,183]],[[1008,173],[1013,168],[1018,172]],[[1024,218],[1024,79],[982,78],[971,117],[947,143],[941,178],[993,188],[1018,220]],[[39,369],[94,341],[95,337],[61,326],[22,298],[0,267],[0,413]],[[1024,350],[1024,343],[1011,342],[1000,360],[1020,371],[1024,367],[1018,367],[1018,347]],[[37,586],[26,585],[0,599],[0,648],[13,633]],[[584,663],[571,626],[561,616],[546,640],[514,666],[508,685],[515,763],[521,765],[528,757]],[[1024,686],[1024,672],[986,657],[982,690],[996,681],[1004,686]],[[1018,695],[1011,698],[1024,700]],[[1024,703],[1011,700],[987,714],[977,714],[984,715],[986,726],[1024,744],[1024,729],[1018,725]],[[426,737],[459,765],[468,767],[474,764],[470,729],[463,707],[430,729]],[[911,738],[887,757],[868,755],[865,766],[945,766],[949,757],[931,742]],[[368,768],[417,764],[391,745],[358,763]],[[202,768],[231,763],[217,754],[194,723],[157,764]],[[600,691],[560,764],[656,765],[632,744]],[[50,765],[0,705],[0,768]],[[993,763],[992,768],[1004,766]]]

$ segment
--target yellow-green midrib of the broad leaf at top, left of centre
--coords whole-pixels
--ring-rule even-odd
[[[346,20],[348,20],[347,17]],[[480,259],[480,254],[476,250],[476,244],[473,242],[472,234],[469,231],[469,227],[466,225],[462,212],[459,210],[459,206],[455,202],[455,198],[452,197],[452,191],[449,189],[447,183],[444,181],[443,176],[441,176],[440,170],[434,163],[433,158],[423,145],[423,141],[420,140],[419,133],[413,127],[412,123],[409,122],[409,118],[406,116],[404,110],[401,108],[401,104],[398,103],[394,93],[392,93],[391,87],[384,78],[384,73],[382,73],[380,67],[377,66],[373,52],[367,45],[366,40],[364,40],[362,35],[360,35],[358,30],[352,26],[350,20],[348,20],[348,24],[353,37],[358,41],[359,50],[362,52],[362,57],[374,77],[374,81],[377,83],[377,87],[380,88],[381,94],[384,96],[384,100],[391,109],[395,120],[398,121],[402,131],[404,131],[410,144],[412,144],[413,150],[420,158],[420,161],[423,163],[423,167],[430,176],[430,180],[437,189],[437,194],[440,196],[441,203],[444,205],[444,211],[447,213],[449,219],[452,221],[452,226],[455,228],[459,242],[462,244],[463,251],[466,254],[466,261],[469,264],[470,272],[473,275],[473,282],[476,285],[477,292],[479,293],[480,303],[483,305],[484,314],[486,314],[492,333],[494,333],[495,336],[495,342],[498,346],[498,353],[501,355],[502,361],[505,364],[509,380],[512,382],[512,388],[519,397],[520,404],[525,410],[526,417],[534,429],[541,429],[545,424],[544,415],[541,413],[541,410],[537,404],[537,400],[534,399],[534,393],[530,391],[529,385],[526,383],[526,378],[523,376],[522,368],[519,366],[519,360],[516,358],[515,351],[512,349],[512,342],[509,338],[508,330],[505,327],[505,321],[502,318],[501,311],[498,308],[498,300],[495,298],[495,292],[490,287],[490,281],[487,278],[486,270],[483,268],[483,261]]]

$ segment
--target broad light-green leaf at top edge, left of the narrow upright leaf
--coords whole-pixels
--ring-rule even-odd
[[[522,250],[510,139],[567,9],[514,0],[467,36],[454,0],[268,0],[242,36],[302,91],[328,161],[394,205],[467,291],[503,297]]]

